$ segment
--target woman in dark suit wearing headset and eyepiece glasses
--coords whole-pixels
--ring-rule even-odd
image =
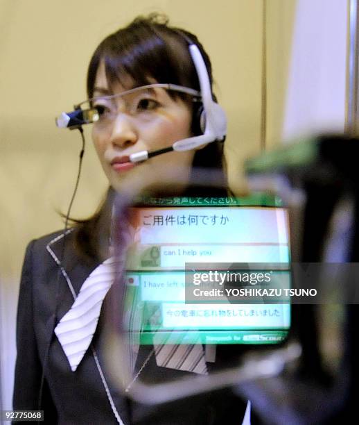
[[[135,19],[105,38],[91,58],[87,94],[93,99],[89,107],[96,108],[99,115],[92,138],[110,183],[107,200],[93,217],[76,222],[66,236],[58,232],[30,242],[21,277],[14,408],[41,408],[45,422],[238,424],[243,417],[243,412],[238,411],[238,401],[229,391],[155,408],[129,401],[111,387],[101,367],[100,326],[92,340],[94,348],[85,352],[76,372],[71,371],[54,334],[82,283],[100,263],[101,223],[113,190],[128,190],[134,181],[146,181],[148,176],[155,176],[157,182],[166,181],[170,170],[171,178],[177,177],[182,182],[176,191],[199,193],[192,167],[222,170],[220,142],[190,151],[169,152],[139,165],[129,160],[132,153],[166,148],[177,140],[201,133],[198,118],[201,104],[191,92],[152,87],[124,94],[132,88],[155,83],[170,83],[198,92],[198,76],[187,38],[200,49],[212,83],[211,63],[195,35],[170,28],[159,16]],[[109,99],[111,95],[116,96]],[[148,368],[156,367],[152,356]],[[168,373],[180,376],[186,372]]]

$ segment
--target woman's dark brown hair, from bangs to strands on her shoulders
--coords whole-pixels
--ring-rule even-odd
[[[105,64],[107,81],[111,87],[121,83],[124,87],[128,77],[136,85],[157,83],[173,83],[200,90],[198,75],[189,53],[188,38],[197,44],[198,49],[207,67],[211,86],[213,83],[211,61],[198,38],[182,28],[168,25],[168,18],[164,15],[151,14],[148,17],[137,17],[125,28],[120,28],[101,42],[91,57],[87,72],[87,95],[89,99],[94,96],[96,73],[101,61]],[[188,95],[171,92],[173,97],[181,97],[188,101]],[[213,99],[216,99],[213,94]],[[195,103],[194,103],[195,104]],[[193,108],[192,132],[200,133],[198,123],[198,107]],[[223,169],[223,144],[212,142],[206,147],[195,152],[193,168],[205,167],[216,170],[220,180],[225,182]],[[196,176],[191,176],[191,184],[186,191],[186,196],[194,194],[204,195],[196,186]],[[207,194],[208,195],[208,194]],[[225,191],[211,192],[211,196],[225,196]],[[112,197],[112,190],[107,192],[105,202],[100,206],[94,216],[87,220],[78,220],[77,245],[82,254],[96,258],[98,246],[100,217],[108,210],[108,203]],[[106,207],[107,206],[107,207]]]

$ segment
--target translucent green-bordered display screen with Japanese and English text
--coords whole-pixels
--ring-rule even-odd
[[[234,198],[175,198],[132,208],[130,217],[125,306],[140,344],[276,344],[286,338],[289,302],[238,303],[225,296],[213,301],[206,291],[195,292],[198,303],[186,297],[189,264],[195,265],[192,274],[217,278],[216,288],[225,288],[220,281],[233,263],[288,265],[285,208]],[[264,276],[265,270],[256,273]],[[290,280],[289,268],[280,273]],[[241,285],[255,286],[253,280]]]

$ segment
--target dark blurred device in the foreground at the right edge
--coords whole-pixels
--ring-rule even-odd
[[[358,262],[358,153],[357,138],[323,135],[247,161],[249,189],[277,194],[289,208],[293,261]],[[347,279],[342,276],[324,306],[292,306],[293,338],[302,349],[297,369],[238,385],[266,424],[351,423],[356,417],[359,310],[338,301],[351,286]]]

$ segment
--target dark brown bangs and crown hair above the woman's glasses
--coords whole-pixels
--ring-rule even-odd
[[[202,44],[194,35],[180,28],[168,26],[164,15],[137,17],[125,28],[108,35],[92,56],[87,73],[87,94],[94,94],[96,72],[105,63],[107,81],[121,83],[130,76],[138,85],[173,83],[200,90],[197,72],[189,54],[186,38],[197,44],[206,63],[212,84],[211,61]],[[183,94],[173,94],[183,96]],[[186,96],[186,95],[184,95]]]

